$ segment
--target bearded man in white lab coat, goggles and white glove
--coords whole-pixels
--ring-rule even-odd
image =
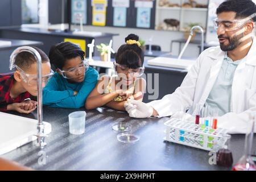
[[[250,113],[256,112],[256,5],[251,0],[225,1],[216,14],[220,46],[201,53],[174,93],[147,104],[126,103],[130,117],[167,117],[180,108],[192,114],[196,104],[209,105],[218,108],[218,127],[231,134],[247,132]]]

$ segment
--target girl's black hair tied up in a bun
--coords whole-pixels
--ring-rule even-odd
[[[127,40],[139,40],[139,36],[135,34],[129,34],[125,38]],[[144,52],[138,44],[123,44],[119,47],[117,55],[115,56],[115,61],[118,64],[127,65],[129,68],[142,67],[144,63]]]

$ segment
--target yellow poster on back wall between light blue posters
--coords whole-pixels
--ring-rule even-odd
[[[96,26],[106,25],[106,1],[93,0],[93,19],[92,24]]]

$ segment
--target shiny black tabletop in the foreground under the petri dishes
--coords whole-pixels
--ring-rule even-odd
[[[83,109],[80,109],[83,110]],[[180,144],[164,142],[168,118],[134,119],[121,111],[100,107],[86,111],[85,133],[69,134],[68,114],[73,109],[44,107],[44,121],[51,123],[47,146],[40,151],[28,143],[2,157],[39,170],[229,170],[209,164],[209,152]],[[12,113],[16,114],[16,113]],[[35,118],[36,112],[24,117]],[[112,124],[130,122],[133,133],[141,137],[134,144],[121,143]],[[234,163],[242,156],[244,135],[232,135]],[[255,143],[254,143],[255,148]],[[45,152],[46,164],[39,164]]]

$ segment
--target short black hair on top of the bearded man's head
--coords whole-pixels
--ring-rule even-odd
[[[233,11],[236,13],[236,18],[246,18],[256,13],[256,5],[251,0],[226,0],[218,6],[216,14]],[[252,18],[256,22],[256,16]]]

